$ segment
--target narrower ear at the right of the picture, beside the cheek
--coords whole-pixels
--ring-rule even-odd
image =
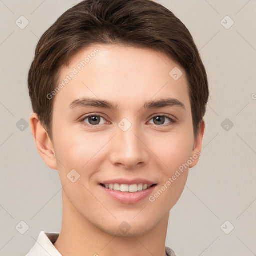
[[[205,128],[205,123],[204,123],[204,120],[202,120],[198,126],[197,136],[194,139],[193,150],[190,155],[190,159],[192,160],[192,163],[189,164],[189,168],[192,168],[197,164],[199,160],[199,156],[201,155],[202,137],[204,133],[204,128]]]

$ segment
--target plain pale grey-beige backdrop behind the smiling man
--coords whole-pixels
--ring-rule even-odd
[[[179,256],[256,255],[256,1],[156,1],[191,32],[210,87],[202,154],[170,211],[166,245]],[[58,173],[22,125],[32,113],[26,79],[38,39],[78,2],[0,0],[1,256],[24,255],[40,231],[61,228]]]

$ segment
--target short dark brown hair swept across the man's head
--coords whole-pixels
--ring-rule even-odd
[[[186,26],[150,0],[84,0],[65,11],[41,36],[28,73],[32,108],[52,139],[53,100],[59,71],[92,44],[121,43],[165,53],[186,72],[193,131],[197,135],[209,97],[199,51]]]

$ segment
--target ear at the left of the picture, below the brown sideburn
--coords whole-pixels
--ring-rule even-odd
[[[53,144],[48,133],[42,126],[38,115],[36,113],[32,113],[29,117],[29,122],[38,153],[48,167],[57,170],[57,161]]]

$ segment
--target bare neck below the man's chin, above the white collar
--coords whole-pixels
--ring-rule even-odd
[[[169,212],[160,222],[146,233],[127,236],[112,235],[103,230],[103,225],[95,226],[82,216],[70,203],[62,191],[62,226],[56,249],[65,256],[165,256],[165,239]],[[138,231],[139,232],[139,231]]]

